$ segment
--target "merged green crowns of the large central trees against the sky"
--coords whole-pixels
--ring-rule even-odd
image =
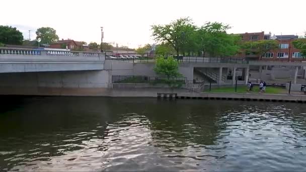
[[[232,56],[240,50],[241,38],[227,34],[230,26],[217,22],[208,22],[201,27],[193,25],[190,18],[181,18],[167,25],[151,26],[154,39],[171,46],[177,55],[187,52],[211,57]]]

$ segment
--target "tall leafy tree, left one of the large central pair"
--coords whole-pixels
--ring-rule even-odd
[[[169,44],[177,52],[179,56],[180,51],[184,49],[184,45],[188,43],[191,31],[194,31],[195,26],[192,24],[190,18],[181,18],[171,22],[167,25],[152,25],[152,36],[155,41],[162,44]],[[183,53],[185,50],[183,50]]]

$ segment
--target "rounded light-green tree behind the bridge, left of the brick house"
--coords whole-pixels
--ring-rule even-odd
[[[56,35],[56,30],[50,27],[42,27],[36,31],[36,39],[40,39],[41,44],[50,44],[58,41],[58,36]]]

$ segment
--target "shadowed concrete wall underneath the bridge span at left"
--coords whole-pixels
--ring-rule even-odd
[[[0,73],[0,88],[107,88],[107,70]]]

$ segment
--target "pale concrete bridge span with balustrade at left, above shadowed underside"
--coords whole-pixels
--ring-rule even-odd
[[[0,73],[103,70],[105,53],[0,47]]]

